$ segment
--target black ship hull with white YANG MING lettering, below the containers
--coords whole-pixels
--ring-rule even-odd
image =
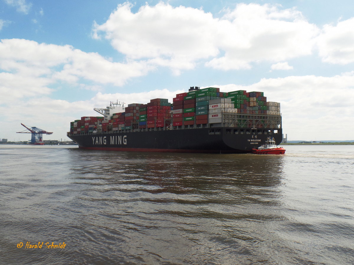
[[[282,130],[217,127],[68,134],[83,149],[179,153],[251,153],[269,136],[279,145]]]

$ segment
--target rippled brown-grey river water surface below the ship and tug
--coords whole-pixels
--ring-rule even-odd
[[[354,146],[285,147],[1,145],[0,263],[354,264]]]

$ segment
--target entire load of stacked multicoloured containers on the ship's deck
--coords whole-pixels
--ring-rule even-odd
[[[280,124],[280,103],[269,102],[263,92],[219,88],[194,88],[168,99],[152,99],[147,104],[133,103],[125,112],[103,117],[81,117],[70,124],[70,133],[119,131],[145,128],[199,128],[202,126],[276,128]],[[208,125],[209,124],[209,125]]]

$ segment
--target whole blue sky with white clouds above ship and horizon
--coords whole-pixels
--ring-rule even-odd
[[[288,140],[354,140],[354,2],[0,0],[0,139],[95,107],[264,92]]]

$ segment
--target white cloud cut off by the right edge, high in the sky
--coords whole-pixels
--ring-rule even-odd
[[[354,62],[354,18],[340,21],[337,25],[324,25],[317,39],[322,60],[332,64]]]

